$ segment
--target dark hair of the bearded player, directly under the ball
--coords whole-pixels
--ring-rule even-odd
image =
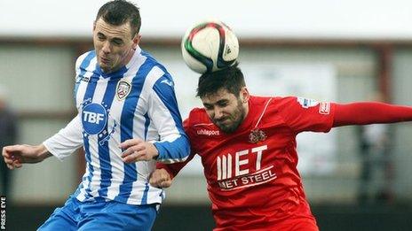
[[[246,83],[242,70],[237,65],[233,65],[220,71],[203,73],[197,84],[196,96],[202,98],[217,93],[219,89],[226,89],[239,97],[243,87],[246,87]]]

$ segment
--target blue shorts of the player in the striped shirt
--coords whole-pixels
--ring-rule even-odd
[[[115,201],[80,202],[70,197],[37,230],[151,230],[156,206]]]

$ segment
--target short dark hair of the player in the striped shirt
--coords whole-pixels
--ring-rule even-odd
[[[110,25],[120,26],[126,22],[131,24],[131,35],[139,34],[141,19],[139,8],[124,0],[114,0],[102,5],[96,21],[102,18]]]

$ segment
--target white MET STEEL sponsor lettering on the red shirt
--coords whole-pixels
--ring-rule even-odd
[[[242,189],[258,184],[263,184],[276,179],[273,166],[261,168],[263,152],[267,145],[258,146],[248,150],[240,150],[233,154],[217,158],[218,186],[222,190]],[[251,173],[250,162],[256,163],[255,172]]]

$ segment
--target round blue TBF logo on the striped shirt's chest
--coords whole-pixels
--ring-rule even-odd
[[[107,124],[107,111],[101,104],[87,104],[82,110],[83,129],[88,135],[99,134]]]

